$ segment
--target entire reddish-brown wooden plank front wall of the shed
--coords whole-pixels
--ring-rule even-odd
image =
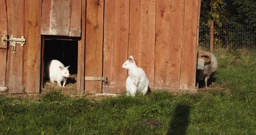
[[[80,37],[78,91],[124,92],[121,65],[133,55],[152,90],[196,92],[200,0],[0,0],[0,11],[1,37],[26,38],[15,53],[0,44],[0,86],[11,93],[39,92],[41,34]],[[108,83],[84,76],[106,76]]]

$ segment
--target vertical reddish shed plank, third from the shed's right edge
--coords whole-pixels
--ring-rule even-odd
[[[155,86],[166,86],[169,62],[170,1],[156,1]]]

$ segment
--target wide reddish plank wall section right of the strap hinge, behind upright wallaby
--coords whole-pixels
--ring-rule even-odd
[[[103,93],[125,91],[133,55],[150,88],[196,92],[200,0],[104,1]]]

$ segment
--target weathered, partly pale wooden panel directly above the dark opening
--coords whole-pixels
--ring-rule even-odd
[[[81,36],[81,1],[43,0],[41,34]]]

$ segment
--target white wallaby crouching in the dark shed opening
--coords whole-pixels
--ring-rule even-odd
[[[65,87],[67,79],[70,77],[68,69],[69,66],[65,67],[60,61],[51,60],[48,65],[50,81],[56,81],[59,86],[61,86],[61,82],[63,81],[62,86]]]

